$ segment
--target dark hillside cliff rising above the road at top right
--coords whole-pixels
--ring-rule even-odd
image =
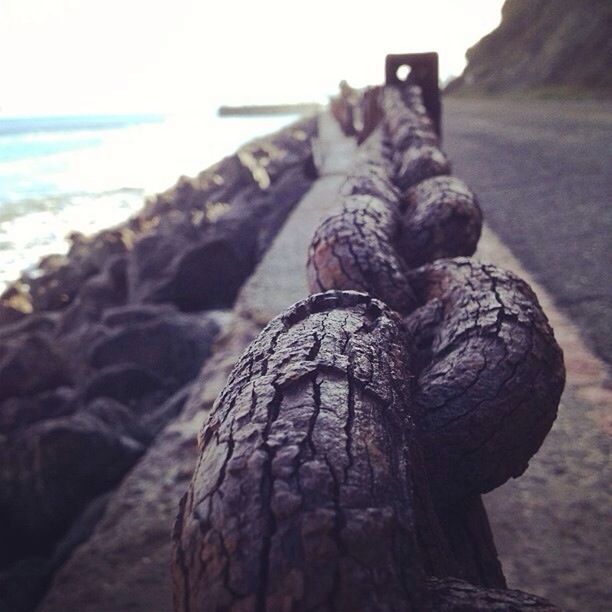
[[[612,3],[506,0],[447,93],[612,94]]]

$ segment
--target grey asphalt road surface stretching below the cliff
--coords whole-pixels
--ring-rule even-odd
[[[612,102],[444,100],[486,222],[612,363]]]

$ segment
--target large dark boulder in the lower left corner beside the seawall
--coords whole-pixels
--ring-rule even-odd
[[[105,399],[0,443],[0,567],[50,554],[84,505],[142,454],[143,439],[131,413]]]

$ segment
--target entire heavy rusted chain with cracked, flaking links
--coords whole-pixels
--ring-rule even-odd
[[[403,93],[384,90],[312,240],[315,294],[269,323],[205,420],[177,610],[552,609],[483,588],[503,575],[482,506],[462,504],[540,446],[561,351],[524,282],[458,257],[480,209]]]

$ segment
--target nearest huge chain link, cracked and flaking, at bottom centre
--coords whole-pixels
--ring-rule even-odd
[[[396,316],[354,292],[268,325],[201,432],[174,531],[177,610],[423,609],[444,544],[405,346]]]

